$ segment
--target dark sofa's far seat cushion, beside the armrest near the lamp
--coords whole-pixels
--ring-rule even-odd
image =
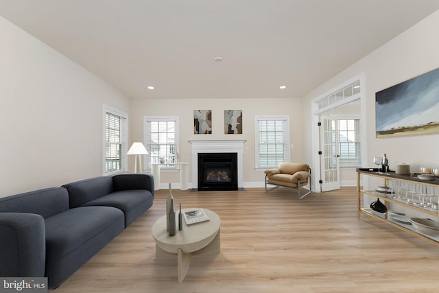
[[[121,209],[125,214],[125,226],[128,227],[152,207],[154,196],[145,189],[115,191],[90,202],[82,204],[83,207],[106,206]]]

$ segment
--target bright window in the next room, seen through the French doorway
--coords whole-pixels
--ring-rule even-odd
[[[359,119],[338,119],[340,167],[361,166]]]

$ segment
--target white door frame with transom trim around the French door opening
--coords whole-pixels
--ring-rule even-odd
[[[340,91],[346,86],[353,84],[354,82],[359,81],[361,86],[361,92],[359,97],[354,97],[353,99],[343,99],[340,102],[336,102],[332,104],[331,106],[328,106],[327,108],[324,108],[322,110],[318,109],[318,102],[320,100],[324,99],[328,95],[331,95],[332,93],[337,93],[337,91]],[[322,95],[319,95],[318,97],[311,100],[311,150],[312,150],[312,164],[313,164],[313,186],[315,190],[314,192],[321,192],[320,189],[320,180],[322,178],[322,174],[320,171],[320,154],[318,152],[320,151],[320,128],[318,126],[318,122],[320,120],[320,114],[326,112],[327,110],[332,110],[334,108],[338,108],[340,106],[349,104],[357,99],[360,99],[360,119],[361,119],[361,166],[364,167],[367,165],[367,158],[368,158],[368,152],[366,146],[367,143],[367,123],[366,123],[366,82],[364,73],[361,73],[359,75],[356,75],[355,77],[346,80],[342,84],[339,84],[335,88],[326,91]]]

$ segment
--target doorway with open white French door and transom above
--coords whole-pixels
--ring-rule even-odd
[[[335,89],[313,99],[313,165],[314,183],[320,192],[355,184],[355,169],[366,158],[364,117],[364,78],[340,84]],[[340,123],[342,121],[342,123]],[[355,123],[357,137],[348,137],[344,123]],[[341,164],[340,164],[341,161]],[[343,167],[340,168],[340,165]]]

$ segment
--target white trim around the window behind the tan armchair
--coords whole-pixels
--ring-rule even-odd
[[[265,171],[266,169],[274,168],[277,166],[259,166],[259,121],[261,120],[281,120],[285,121],[285,140],[284,146],[284,161],[291,161],[290,141],[291,133],[289,131],[289,115],[255,115],[254,116],[254,169],[257,171]]]

